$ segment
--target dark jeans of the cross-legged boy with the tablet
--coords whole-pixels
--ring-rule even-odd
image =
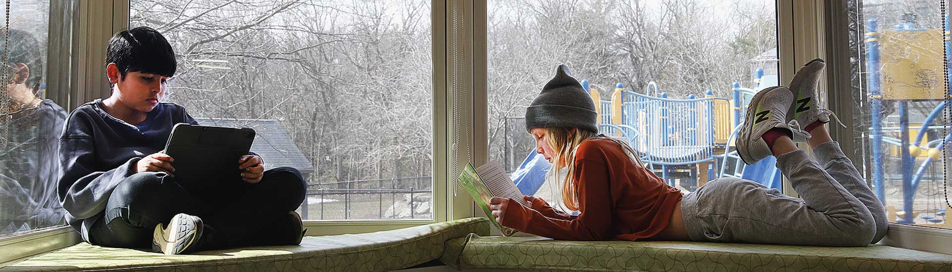
[[[189,191],[163,172],[138,173],[116,186],[105,217],[89,229],[89,243],[148,248],[156,224],[186,213],[205,223],[201,249],[281,244],[297,236],[288,233],[296,229],[288,212],[304,202],[306,191],[304,177],[292,167],[265,171],[257,184],[239,179],[203,191]]]

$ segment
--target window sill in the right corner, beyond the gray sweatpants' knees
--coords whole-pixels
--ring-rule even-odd
[[[879,244],[952,255],[952,229],[904,223],[889,223]]]

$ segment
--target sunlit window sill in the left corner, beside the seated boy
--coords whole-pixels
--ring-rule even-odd
[[[0,267],[82,242],[68,225],[0,239]]]

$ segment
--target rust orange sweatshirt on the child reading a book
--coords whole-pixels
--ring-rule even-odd
[[[559,240],[635,241],[661,232],[682,197],[651,170],[632,164],[622,146],[607,138],[583,142],[575,167],[579,215],[553,209],[541,199],[531,207],[510,199],[503,224]]]

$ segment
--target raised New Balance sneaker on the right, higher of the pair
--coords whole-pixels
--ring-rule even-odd
[[[793,80],[790,81],[789,88],[793,92],[794,101],[786,112],[786,122],[796,120],[800,126],[805,127],[817,121],[823,124],[829,123],[830,117],[832,117],[837,120],[840,126],[843,126],[836,114],[821,107],[820,100],[817,99],[819,95],[817,85],[820,83],[821,72],[825,67],[826,62],[823,59],[814,59],[793,74]],[[794,135],[791,140],[795,143],[805,143],[810,137],[808,133],[804,135],[806,137]]]

